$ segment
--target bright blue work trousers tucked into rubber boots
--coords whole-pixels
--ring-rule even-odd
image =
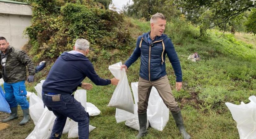
[[[3,89],[5,91],[5,99],[9,103],[10,108],[17,107],[18,104],[20,104],[23,110],[29,108],[25,80],[16,83],[4,82]]]

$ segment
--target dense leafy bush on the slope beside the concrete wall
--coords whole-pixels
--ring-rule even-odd
[[[83,0],[85,1],[91,0]],[[92,51],[130,49],[133,41],[128,29],[123,24],[124,16],[115,11],[100,9],[97,6],[65,3],[55,0],[33,0],[32,24],[25,30],[29,36],[27,47],[35,61],[42,58],[56,58],[64,51],[72,50],[78,38],[87,39]],[[58,11],[56,5],[61,6]],[[101,47],[99,47],[101,46]],[[94,56],[100,51],[95,51]],[[40,56],[40,57],[38,57]],[[93,56],[93,57],[94,57]],[[94,60],[97,60],[94,58]]]

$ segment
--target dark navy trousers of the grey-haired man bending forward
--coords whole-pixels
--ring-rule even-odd
[[[50,139],[61,138],[67,117],[78,122],[79,139],[89,138],[89,114],[84,110],[81,103],[74,99],[74,96],[69,94],[60,95],[59,100],[53,101],[52,96],[45,95],[42,92],[42,99],[48,110],[56,116]]]

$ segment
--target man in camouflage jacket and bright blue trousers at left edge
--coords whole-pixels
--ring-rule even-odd
[[[0,49],[0,78],[4,80],[5,99],[11,108],[10,117],[2,122],[18,118],[17,106],[19,104],[23,111],[23,120],[20,124],[26,124],[29,121],[29,102],[25,87],[26,66],[29,71],[27,81],[34,82],[34,63],[24,51],[10,46],[4,37],[0,37]]]

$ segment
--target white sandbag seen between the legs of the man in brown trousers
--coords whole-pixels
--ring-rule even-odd
[[[149,95],[147,117],[152,128],[163,131],[169,120],[169,109],[153,86]]]

